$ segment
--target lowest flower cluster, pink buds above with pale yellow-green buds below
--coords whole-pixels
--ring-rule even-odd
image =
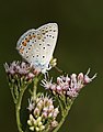
[[[30,111],[27,124],[31,131],[49,130],[58,125],[56,118],[59,110],[54,107],[52,98],[41,96],[35,101],[31,100],[27,109]]]

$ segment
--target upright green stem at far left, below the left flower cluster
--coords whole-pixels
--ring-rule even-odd
[[[15,105],[16,124],[18,124],[19,132],[23,132],[21,119],[20,119],[20,111],[21,111],[21,103],[22,103],[22,98],[23,98],[23,94],[24,94],[25,89],[26,88],[22,88],[22,90],[20,92],[19,100]]]

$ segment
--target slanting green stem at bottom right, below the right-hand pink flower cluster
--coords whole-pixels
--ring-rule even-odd
[[[58,127],[57,127],[53,132],[57,132],[57,131],[60,129],[60,127],[61,127],[62,123],[65,122],[66,117],[68,116],[68,112],[69,112],[71,106],[72,106],[72,102],[68,106],[68,109],[67,109],[67,111],[65,112],[64,117],[61,117],[61,120],[60,120]]]

